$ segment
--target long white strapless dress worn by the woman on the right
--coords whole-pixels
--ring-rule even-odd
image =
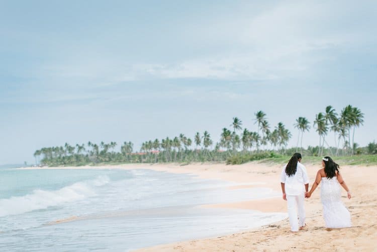
[[[341,188],[336,177],[322,178],[321,201],[327,228],[351,226],[351,215],[341,201]]]

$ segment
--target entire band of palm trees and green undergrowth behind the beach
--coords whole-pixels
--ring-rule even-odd
[[[194,141],[184,134],[164,139],[154,139],[142,143],[140,152],[134,152],[132,142],[124,142],[120,151],[115,151],[116,142],[100,144],[88,142],[71,146],[44,147],[36,150],[36,163],[41,165],[91,165],[115,163],[157,163],[226,161],[228,164],[241,164],[253,160],[267,162],[285,162],[294,152],[300,151],[306,160],[317,162],[319,156],[330,155],[335,160],[347,164],[376,163],[377,144],[370,142],[366,147],[359,147],[354,142],[355,129],[363,124],[361,111],[346,106],[340,115],[332,106],[327,106],[325,112],[315,116],[314,129],[319,135],[318,146],[302,147],[304,132],[310,130],[310,122],[305,117],[299,117],[294,124],[299,130],[297,147],[287,149],[291,132],[279,122],[273,129],[267,121],[266,114],[258,111],[254,114],[254,124],[257,132],[242,128],[242,121],[234,117],[230,129],[223,128],[220,139],[214,143],[208,131],[197,132]],[[334,133],[334,145],[327,139],[328,133]],[[240,132],[240,133],[239,133]],[[300,146],[299,146],[300,143]],[[194,148],[192,145],[195,144]],[[326,145],[325,145],[326,144]],[[369,155],[367,155],[369,154]],[[341,157],[340,157],[341,156]]]

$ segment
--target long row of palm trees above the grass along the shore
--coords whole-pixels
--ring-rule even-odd
[[[71,146],[65,143],[64,146],[42,148],[35,151],[36,162],[49,164],[85,163],[85,162],[108,162],[108,161],[205,161],[205,160],[225,160],[227,157],[239,153],[252,153],[261,150],[276,149],[282,153],[286,149],[291,132],[286,126],[279,122],[271,129],[266,114],[258,111],[254,114],[254,124],[257,124],[257,131],[250,131],[242,128],[242,121],[234,117],[229,128],[225,127],[221,131],[220,140],[213,145],[214,141],[208,131],[203,134],[197,132],[192,140],[184,134],[164,139],[145,141],[141,145],[141,153],[134,153],[132,142],[124,142],[120,147],[120,152],[114,151],[116,142],[100,144],[88,142]],[[355,128],[363,124],[363,113],[351,105],[346,106],[338,115],[332,106],[327,106],[325,112],[316,114],[313,127],[319,134],[319,155],[323,154],[324,144],[327,145],[331,154],[339,154],[339,146],[343,141],[343,154],[354,153]],[[299,117],[294,127],[298,129],[296,151],[303,150],[303,135],[311,128],[306,117]],[[326,140],[329,131],[334,132],[335,145],[330,148]],[[352,139],[351,139],[352,131]],[[301,141],[300,141],[301,140]],[[351,142],[352,140],[352,142]],[[352,145],[351,145],[352,143]],[[195,147],[191,146],[195,144]],[[213,147],[214,146],[214,147]],[[317,148],[311,151],[317,151]],[[42,157],[42,159],[41,159]],[[41,159],[41,160],[40,160]]]

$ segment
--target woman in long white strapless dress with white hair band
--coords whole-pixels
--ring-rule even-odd
[[[321,201],[323,206],[323,217],[327,228],[342,228],[351,226],[351,216],[341,201],[341,188],[347,192],[348,199],[351,193],[345,184],[342,175],[339,173],[339,165],[331,157],[322,158],[322,169],[318,171],[316,181],[310,192],[305,194],[309,198],[317,186],[322,182]]]

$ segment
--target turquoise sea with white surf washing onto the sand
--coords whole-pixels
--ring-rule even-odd
[[[199,207],[278,196],[232,185],[151,170],[0,169],[0,251],[127,251],[286,217]]]

